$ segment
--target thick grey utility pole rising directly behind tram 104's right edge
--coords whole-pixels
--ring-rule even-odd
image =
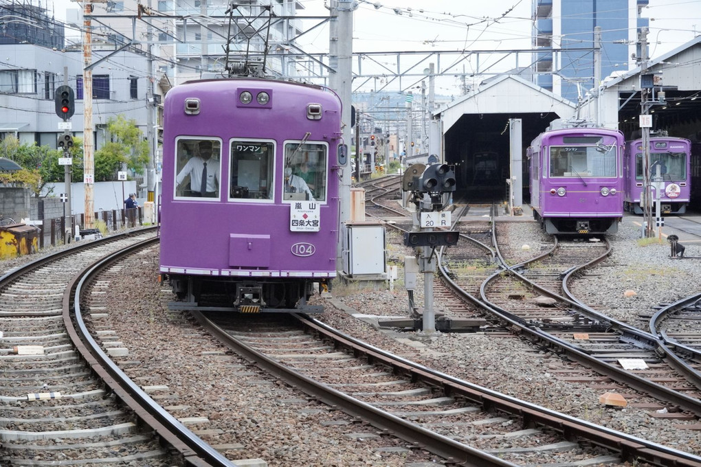
[[[343,110],[341,122],[343,122],[343,142],[351,142],[351,95],[353,90],[353,9],[355,2],[352,0],[331,0],[329,1],[329,86],[341,98]],[[356,131],[359,131],[356,124]],[[355,152],[360,155],[360,147],[356,146]],[[360,165],[360,158],[358,158]],[[346,164],[340,167],[341,186],[339,187],[340,208],[339,208],[339,232],[343,229],[343,223],[351,218],[351,165]],[[336,248],[336,265],[343,267],[343,248],[339,242]]]

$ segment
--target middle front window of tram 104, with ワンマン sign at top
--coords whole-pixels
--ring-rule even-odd
[[[273,199],[273,155],[270,141],[231,141],[230,198]]]

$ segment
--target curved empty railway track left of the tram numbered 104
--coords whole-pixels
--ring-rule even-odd
[[[90,274],[156,242],[155,230],[79,244],[0,278],[1,340],[11,345],[0,355],[2,465],[233,465],[158,419],[83,325],[75,298]]]

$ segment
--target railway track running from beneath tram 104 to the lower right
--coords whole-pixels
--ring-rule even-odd
[[[307,319],[198,314],[238,354],[337,410],[444,457],[514,466],[628,462],[701,465],[701,458],[503,396],[406,361]]]

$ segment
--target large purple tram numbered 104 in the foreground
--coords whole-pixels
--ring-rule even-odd
[[[163,104],[160,272],[174,309],[321,312],[336,276],[341,101],[266,78],[189,81]]]

